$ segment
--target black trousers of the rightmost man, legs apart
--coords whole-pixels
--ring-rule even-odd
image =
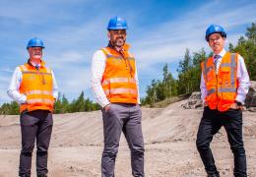
[[[240,109],[228,109],[225,112],[220,112],[205,107],[196,141],[205,169],[209,175],[219,174],[210,143],[222,126],[224,126],[234,156],[233,175],[235,177],[247,176],[246,155],[242,141],[242,111]]]

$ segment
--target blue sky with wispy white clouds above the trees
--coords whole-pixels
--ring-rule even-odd
[[[69,100],[82,90],[93,98],[92,55],[107,44],[108,20],[125,18],[144,96],[151,81],[161,79],[164,63],[176,76],[186,48],[209,51],[204,34],[210,24],[223,26],[226,43],[235,44],[256,23],[255,9],[253,0],[1,0],[0,104],[11,101],[6,90],[12,73],[27,61],[26,45],[34,36],[44,42],[43,59],[54,71],[60,91]]]

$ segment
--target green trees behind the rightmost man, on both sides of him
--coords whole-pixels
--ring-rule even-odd
[[[250,80],[256,80],[256,25],[252,23],[250,28],[246,29],[245,35],[238,39],[236,46],[229,43],[230,52],[239,53],[245,61]],[[212,56],[207,54],[204,48],[199,52],[190,55],[189,49],[186,49],[183,59],[178,65],[178,77],[174,79],[168,71],[167,64],[162,69],[162,80],[153,80],[146,89],[146,96],[142,99],[143,105],[154,106],[156,102],[171,98],[177,95],[190,94],[193,91],[200,90],[201,80],[201,62]]]

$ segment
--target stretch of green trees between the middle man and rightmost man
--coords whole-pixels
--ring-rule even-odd
[[[199,90],[201,67],[200,63],[209,55],[204,49],[193,53],[190,56],[189,49],[186,49],[184,59],[178,65],[178,78],[174,79],[168,71],[165,64],[162,69],[162,80],[153,80],[151,85],[146,89],[146,97],[142,99],[142,104],[154,106],[155,103],[166,98],[178,95],[189,94],[195,90]]]

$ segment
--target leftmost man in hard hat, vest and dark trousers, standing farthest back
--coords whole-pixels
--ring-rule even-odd
[[[32,150],[36,140],[36,174],[47,176],[47,156],[52,132],[52,111],[58,96],[53,72],[42,61],[43,42],[32,38],[27,49],[27,63],[15,69],[8,95],[20,104],[22,150],[19,176],[30,177]]]

